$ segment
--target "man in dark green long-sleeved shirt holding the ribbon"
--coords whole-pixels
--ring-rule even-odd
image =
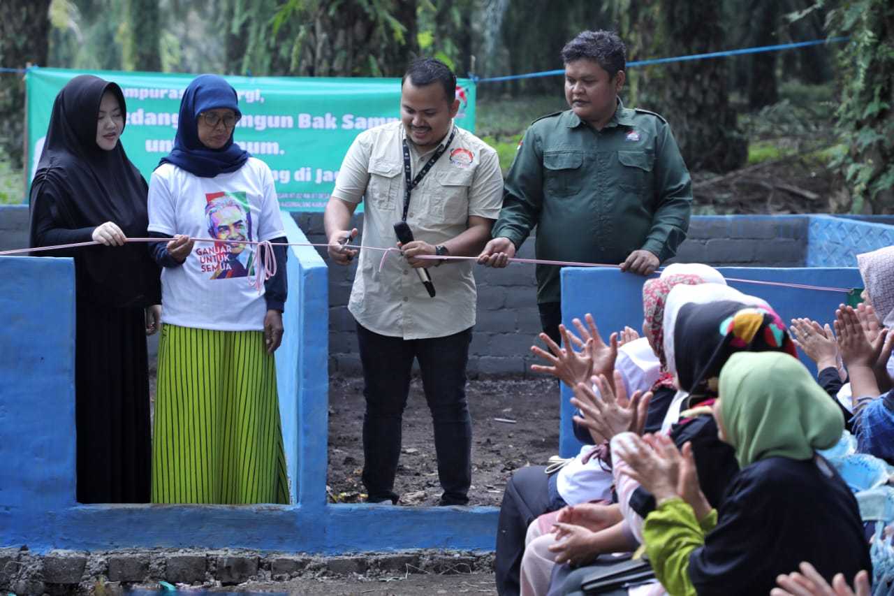
[[[629,109],[625,47],[610,31],[583,31],[561,52],[569,110],[536,120],[504,183],[493,240],[478,262],[505,267],[536,226],[536,258],[620,263],[651,275],[686,238],[692,185],[662,116]],[[537,265],[537,306],[557,343],[559,267]]]

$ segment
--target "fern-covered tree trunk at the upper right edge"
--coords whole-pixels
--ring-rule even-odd
[[[814,6],[822,7],[825,0]],[[849,36],[838,56],[841,98],[836,131],[848,144],[831,161],[843,173],[853,212],[894,212],[894,4],[841,0],[826,28]]]

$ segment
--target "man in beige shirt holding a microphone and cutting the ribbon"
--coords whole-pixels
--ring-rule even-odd
[[[410,64],[401,85],[401,122],[358,135],[326,205],[334,262],[347,265],[358,254],[343,243],[357,235],[347,228],[361,199],[363,245],[397,246],[402,253],[387,255],[380,269],[381,251],[359,251],[348,305],[363,365],[363,483],[372,503],[399,498],[394,475],[414,359],[434,420],[440,504],[468,503],[472,428],[465,386],[475,261],[417,257],[477,256],[500,213],[502,175],[496,151],[454,125],[460,106],[455,89],[456,76],[445,64],[431,58]],[[412,242],[398,242],[394,224],[401,221]],[[414,268],[427,271],[434,296]]]

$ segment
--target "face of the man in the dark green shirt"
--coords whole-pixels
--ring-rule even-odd
[[[580,58],[565,64],[565,100],[586,123],[607,123],[615,113],[624,71],[613,77],[594,60]]]

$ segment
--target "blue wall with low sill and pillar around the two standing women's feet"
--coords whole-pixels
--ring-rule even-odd
[[[291,243],[306,242],[283,220]],[[289,261],[276,362],[296,504],[232,507],[75,502],[72,260],[0,258],[0,547],[493,549],[493,507],[326,504],[327,270],[310,247]]]

